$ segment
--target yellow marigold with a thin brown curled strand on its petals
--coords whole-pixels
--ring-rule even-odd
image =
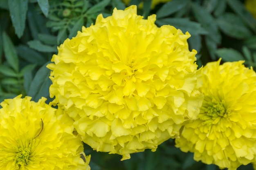
[[[45,98],[20,97],[1,103],[0,169],[90,170],[72,119],[45,104]]]

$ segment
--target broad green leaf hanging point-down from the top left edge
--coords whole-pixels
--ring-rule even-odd
[[[28,0],[8,0],[11,22],[20,38],[25,29]]]

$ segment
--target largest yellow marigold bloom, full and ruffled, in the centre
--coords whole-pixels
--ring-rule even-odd
[[[134,5],[99,15],[65,40],[48,65],[50,96],[83,141],[122,160],[179,135],[202,104],[189,33],[157,27],[155,15],[142,18]]]

